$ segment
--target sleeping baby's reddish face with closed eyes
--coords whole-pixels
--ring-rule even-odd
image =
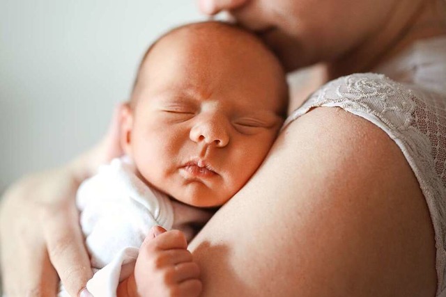
[[[124,128],[146,182],[196,207],[224,204],[260,166],[287,91],[266,49],[240,33],[217,34],[180,31],[153,48]]]

